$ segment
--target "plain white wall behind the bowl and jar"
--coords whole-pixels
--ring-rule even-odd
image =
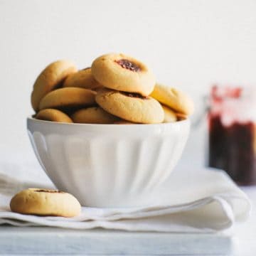
[[[255,14],[253,0],[0,0],[2,157],[31,150],[33,82],[60,58],[85,68],[102,53],[133,55],[160,82],[188,92],[197,112],[213,82],[256,85]],[[192,132],[185,156],[195,146],[203,152],[205,137]]]

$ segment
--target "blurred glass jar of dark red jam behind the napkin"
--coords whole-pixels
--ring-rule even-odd
[[[208,129],[208,165],[225,170],[239,185],[255,185],[255,90],[213,86]]]

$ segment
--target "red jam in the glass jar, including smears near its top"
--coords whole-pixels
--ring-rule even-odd
[[[256,123],[250,119],[242,122],[233,119],[230,124],[223,124],[223,102],[237,99],[239,104],[242,90],[228,88],[222,96],[217,90],[213,87],[208,113],[208,164],[225,170],[240,185],[256,184]]]

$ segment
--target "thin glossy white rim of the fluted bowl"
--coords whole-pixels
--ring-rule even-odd
[[[163,123],[158,123],[158,124],[82,124],[82,123],[68,123],[68,122],[55,122],[55,121],[47,121],[47,120],[41,120],[41,119],[36,119],[33,117],[27,117],[27,122],[35,122],[37,124],[50,124],[50,125],[62,125],[62,126],[74,126],[74,127],[156,127],[156,126],[176,126],[176,125],[181,125],[181,124],[186,124],[190,123],[189,117],[183,120],[179,120],[176,122],[163,122]]]

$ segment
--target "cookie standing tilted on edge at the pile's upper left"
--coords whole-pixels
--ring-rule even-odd
[[[60,84],[72,73],[78,69],[70,60],[58,60],[50,63],[36,79],[31,94],[31,104],[33,110],[38,111],[41,99],[51,90],[59,87]]]

